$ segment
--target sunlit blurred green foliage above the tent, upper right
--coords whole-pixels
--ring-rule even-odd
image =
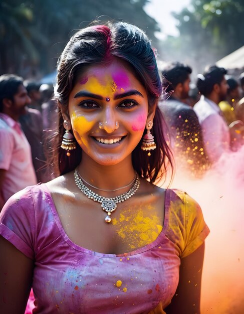
[[[244,0],[192,0],[189,8],[173,16],[181,52],[174,56],[193,67],[202,69],[244,45]]]

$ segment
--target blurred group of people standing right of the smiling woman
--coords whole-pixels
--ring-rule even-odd
[[[191,78],[192,69],[179,62],[161,72],[166,94],[159,107],[176,170],[201,178],[223,153],[244,143],[244,73],[233,78],[214,65]]]

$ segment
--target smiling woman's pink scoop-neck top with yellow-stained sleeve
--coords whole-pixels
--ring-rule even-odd
[[[33,312],[42,314],[148,313],[160,301],[164,308],[178,284],[180,258],[208,232],[198,204],[179,190],[166,191],[157,239],[120,255],[73,243],[44,184],[14,195],[0,214],[0,234],[35,261]]]

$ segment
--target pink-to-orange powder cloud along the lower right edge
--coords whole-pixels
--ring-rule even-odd
[[[201,180],[176,172],[171,188],[201,206],[210,229],[205,240],[201,313],[244,313],[244,146],[225,154]]]

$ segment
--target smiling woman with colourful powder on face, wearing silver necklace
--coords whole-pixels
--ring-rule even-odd
[[[55,92],[60,176],[13,196],[0,217],[3,312],[23,313],[32,286],[35,313],[199,313],[209,231],[186,193],[155,185],[172,166],[161,93],[137,27],[71,38]]]

